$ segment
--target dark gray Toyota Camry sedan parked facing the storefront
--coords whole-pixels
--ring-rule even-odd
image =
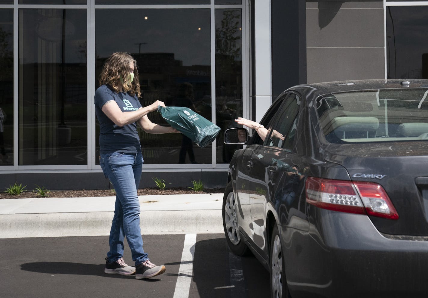
[[[298,85],[229,166],[230,249],[270,271],[271,297],[428,296],[428,80]],[[279,137],[280,136],[280,137]]]

